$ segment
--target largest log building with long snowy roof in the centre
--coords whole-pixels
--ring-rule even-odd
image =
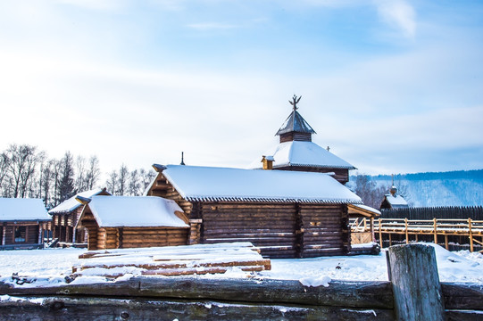
[[[347,204],[359,196],[328,174],[154,165],[147,195],[176,201],[189,243],[251,242],[269,258],[350,251]]]

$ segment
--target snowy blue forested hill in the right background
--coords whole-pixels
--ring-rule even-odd
[[[371,176],[371,180],[387,186],[387,191],[392,184],[390,175]],[[411,207],[483,205],[483,169],[399,174],[394,183]]]

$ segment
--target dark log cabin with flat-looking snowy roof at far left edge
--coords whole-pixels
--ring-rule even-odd
[[[0,198],[0,250],[43,248],[51,222],[40,199]]]

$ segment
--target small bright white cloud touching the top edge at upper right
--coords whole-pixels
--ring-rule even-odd
[[[375,0],[379,17],[388,25],[400,30],[404,37],[416,35],[416,12],[404,0]]]

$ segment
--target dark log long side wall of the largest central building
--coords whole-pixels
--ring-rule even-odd
[[[204,202],[201,243],[251,242],[268,258],[307,258],[348,252],[343,205]]]

